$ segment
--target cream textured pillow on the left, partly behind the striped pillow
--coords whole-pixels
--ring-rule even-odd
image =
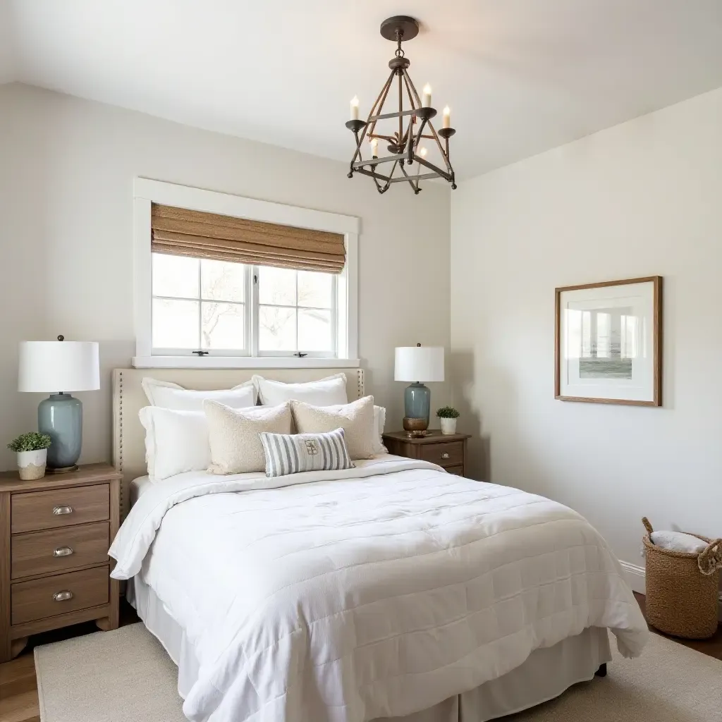
[[[265,471],[266,456],[261,432],[290,434],[290,404],[256,406],[253,409],[232,409],[218,401],[203,402],[208,420],[212,474],[245,474]]]

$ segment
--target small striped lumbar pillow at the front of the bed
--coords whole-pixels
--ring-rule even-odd
[[[282,477],[300,471],[353,469],[344,430],[323,434],[258,434],[266,455],[266,477]]]

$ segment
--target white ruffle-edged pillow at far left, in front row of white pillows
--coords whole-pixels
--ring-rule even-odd
[[[208,468],[211,448],[206,414],[145,406],[138,415],[145,428],[145,460],[152,482]]]

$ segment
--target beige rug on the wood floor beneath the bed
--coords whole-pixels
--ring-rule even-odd
[[[183,722],[178,670],[141,624],[35,648],[43,722]],[[639,659],[508,722],[722,722],[722,662],[657,635]]]

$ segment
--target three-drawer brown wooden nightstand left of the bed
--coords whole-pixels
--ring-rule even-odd
[[[95,619],[118,627],[110,541],[120,523],[121,474],[88,464],[23,482],[0,473],[0,662],[38,632]]]

